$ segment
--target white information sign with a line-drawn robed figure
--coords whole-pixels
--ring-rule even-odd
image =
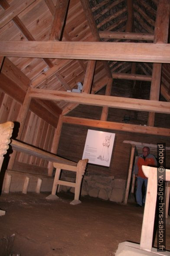
[[[115,133],[88,130],[82,159],[95,165],[110,166]]]

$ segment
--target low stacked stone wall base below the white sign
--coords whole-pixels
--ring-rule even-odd
[[[62,174],[62,179],[75,182],[75,178]],[[114,176],[103,177],[99,175],[84,176],[82,182],[81,195],[110,200],[113,202],[123,202],[126,180],[114,179]],[[60,190],[74,193],[75,188],[61,186]]]

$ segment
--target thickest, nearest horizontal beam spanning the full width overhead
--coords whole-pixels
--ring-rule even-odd
[[[170,44],[0,41],[0,56],[170,63]]]

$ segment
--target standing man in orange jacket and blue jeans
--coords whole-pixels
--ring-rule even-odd
[[[142,171],[142,165],[146,166],[155,166],[157,167],[157,160],[154,155],[150,154],[150,148],[144,147],[142,149],[143,154],[137,158],[137,161],[134,166],[134,173],[137,177],[137,191],[136,191],[136,201],[137,207],[142,207],[145,204],[146,192],[147,192],[147,177]],[[142,185],[145,185],[145,194],[142,199]]]

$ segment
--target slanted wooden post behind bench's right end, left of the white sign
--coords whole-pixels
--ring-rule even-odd
[[[62,131],[62,115],[59,116],[59,121],[57,124],[57,128],[55,130],[55,133],[54,133],[53,141],[52,141],[51,153],[53,153],[53,154],[57,153],[61,131]],[[52,176],[53,169],[54,169],[53,162],[49,162],[48,163],[48,175],[49,176]]]

